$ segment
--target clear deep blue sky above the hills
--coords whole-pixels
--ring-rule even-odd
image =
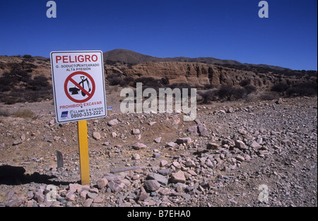
[[[0,54],[130,49],[317,70],[317,0],[0,0]]]

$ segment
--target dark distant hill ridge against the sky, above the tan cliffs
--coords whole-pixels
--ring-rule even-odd
[[[288,70],[288,68],[283,68],[280,66],[271,66],[267,64],[247,64],[241,63],[240,61],[228,60],[228,59],[216,59],[213,57],[198,57],[198,58],[189,58],[185,56],[177,57],[167,57],[167,58],[158,58],[156,56],[149,56],[145,54],[140,54],[133,52],[127,49],[114,49],[103,54],[104,61],[118,61],[124,64],[141,64],[149,61],[157,62],[167,62],[167,61],[179,61],[179,62],[198,62],[204,64],[220,64],[220,65],[240,65],[240,66],[257,66],[262,68],[271,68],[274,70]]]

